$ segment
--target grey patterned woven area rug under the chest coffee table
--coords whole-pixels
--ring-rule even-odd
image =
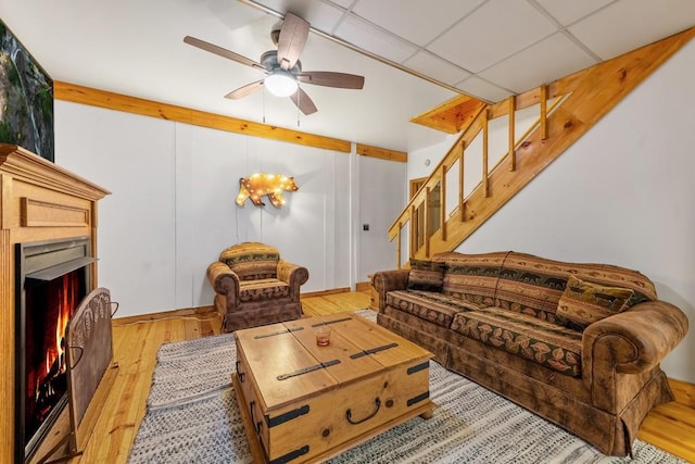
[[[375,319],[371,311],[357,314]],[[230,374],[231,334],[162,346],[128,463],[251,463]],[[636,440],[608,457],[508,400],[430,365],[433,417],[416,417],[329,461],[348,463],[684,463]]]

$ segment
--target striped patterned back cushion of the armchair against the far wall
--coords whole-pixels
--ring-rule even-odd
[[[274,247],[258,242],[243,242],[229,247],[219,254],[241,280],[277,278],[280,253]]]

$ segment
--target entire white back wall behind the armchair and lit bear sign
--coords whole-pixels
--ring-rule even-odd
[[[302,291],[354,287],[367,280],[389,247],[386,234],[354,247],[358,217],[392,221],[402,206],[405,165],[379,170],[365,202],[356,153],[332,152],[187,124],[55,102],[55,162],[110,189],[99,204],[99,285],[121,303],[118,316],[212,304],[205,278],[219,252],[263,241],[306,266]],[[238,208],[239,178],[255,172],[294,176],[287,204]],[[399,191],[401,189],[401,191]],[[387,221],[387,220],[384,220]],[[364,269],[363,269],[364,267]]]

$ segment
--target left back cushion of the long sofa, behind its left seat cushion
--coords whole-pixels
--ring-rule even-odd
[[[446,265],[442,292],[476,303],[479,306],[494,304],[495,286],[506,252],[463,254],[439,253],[434,262]]]

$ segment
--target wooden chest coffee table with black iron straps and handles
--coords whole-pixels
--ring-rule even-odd
[[[331,328],[330,344],[315,330]],[[429,418],[422,348],[354,314],[237,330],[232,380],[254,460],[328,459],[417,415]]]

